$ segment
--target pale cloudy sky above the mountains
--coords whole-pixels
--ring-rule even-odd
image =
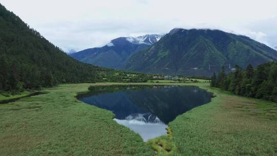
[[[0,0],[50,42],[68,52],[120,36],[210,28],[277,46],[276,0]]]

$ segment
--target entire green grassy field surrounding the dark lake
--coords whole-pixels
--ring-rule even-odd
[[[0,105],[1,155],[154,155],[154,149],[158,155],[277,154],[276,103],[232,95],[208,83],[180,83],[216,97],[169,123],[169,135],[144,143],[113,121],[110,111],[74,97],[90,85],[114,84],[121,83],[60,85],[45,89],[48,94]],[[165,84],[170,83],[160,85]]]

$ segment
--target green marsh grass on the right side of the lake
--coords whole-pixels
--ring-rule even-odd
[[[161,139],[178,150],[166,155],[277,155],[276,103],[197,85],[216,97],[169,123],[172,141]]]

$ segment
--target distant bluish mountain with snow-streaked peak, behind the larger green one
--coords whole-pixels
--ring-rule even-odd
[[[85,49],[70,54],[74,59],[95,66],[124,69],[129,57],[160,40],[163,35],[147,34],[138,37],[118,37],[100,48]]]

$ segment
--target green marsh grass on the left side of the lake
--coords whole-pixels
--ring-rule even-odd
[[[0,155],[153,155],[113,113],[75,99],[89,86],[61,85],[0,105]]]

